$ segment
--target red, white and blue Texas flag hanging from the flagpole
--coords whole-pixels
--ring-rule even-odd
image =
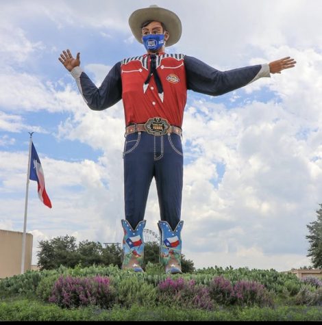
[[[32,157],[30,158],[29,179],[31,179],[32,181],[37,181],[38,196],[40,198],[40,201],[42,203],[44,203],[44,205],[47,205],[47,207],[51,208],[51,202],[49,200],[49,197],[48,197],[48,195],[46,193],[46,189],[45,189],[44,171],[42,170],[40,159],[37,155],[36,148],[33,143],[32,143]]]

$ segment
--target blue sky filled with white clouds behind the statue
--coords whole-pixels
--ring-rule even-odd
[[[116,62],[145,53],[127,20],[151,4],[182,20],[182,38],[168,53],[219,70],[297,60],[281,75],[223,96],[188,92],[184,255],[197,268],[310,265],[306,224],[322,200],[319,0],[1,0],[0,229],[23,230],[34,131],[53,209],[40,203],[31,182],[33,263],[42,239],[121,242],[123,105],[90,111],[58,57],[64,49],[80,52],[82,68],[99,86]],[[145,219],[157,232],[156,211],[153,182]]]

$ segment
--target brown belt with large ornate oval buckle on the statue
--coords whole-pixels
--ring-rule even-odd
[[[169,125],[165,118],[150,118],[145,123],[129,125],[125,128],[125,135],[134,132],[147,132],[152,135],[165,135],[167,133],[176,133],[182,135],[182,129]]]

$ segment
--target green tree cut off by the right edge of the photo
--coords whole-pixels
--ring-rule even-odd
[[[306,238],[310,243],[308,257],[312,258],[314,268],[322,268],[322,204],[317,212],[317,220],[307,225],[310,235]]]

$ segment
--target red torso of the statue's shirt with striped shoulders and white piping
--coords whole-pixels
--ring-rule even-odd
[[[121,62],[122,99],[125,123],[144,123],[149,118],[166,118],[170,125],[182,126],[187,99],[184,55],[162,53],[156,57],[156,68],[162,82],[164,99],[158,95],[152,76],[147,90],[143,85],[149,75],[151,58],[145,54]]]

